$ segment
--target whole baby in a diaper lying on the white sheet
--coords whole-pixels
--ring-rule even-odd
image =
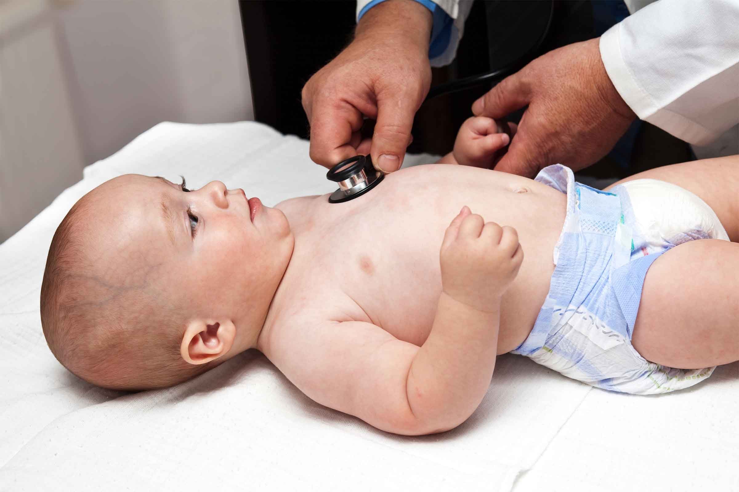
[[[487,167],[507,142],[470,119],[445,161]],[[313,400],[398,434],[462,423],[508,352],[605,389],[680,389],[739,359],[737,164],[609,192],[560,165],[534,181],[428,164],[342,204],[274,208],[219,181],[120,176],[55,233],[44,335],[115,389],[256,348]]]

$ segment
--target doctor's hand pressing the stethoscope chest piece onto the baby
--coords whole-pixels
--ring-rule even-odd
[[[385,1],[361,18],[352,43],[305,84],[310,159],[332,167],[372,153],[385,172],[398,170],[412,140],[416,111],[431,85],[432,14],[415,0]],[[363,117],[376,119],[362,139]]]

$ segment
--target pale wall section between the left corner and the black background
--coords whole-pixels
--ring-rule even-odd
[[[161,121],[253,119],[236,0],[83,0],[59,19],[86,164]]]

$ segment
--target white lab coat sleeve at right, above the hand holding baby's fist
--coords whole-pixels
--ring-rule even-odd
[[[694,145],[739,122],[739,0],[659,0],[600,38],[606,72],[640,119]]]

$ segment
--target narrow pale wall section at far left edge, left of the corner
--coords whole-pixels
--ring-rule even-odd
[[[82,176],[50,14],[44,0],[0,1],[0,243]]]

